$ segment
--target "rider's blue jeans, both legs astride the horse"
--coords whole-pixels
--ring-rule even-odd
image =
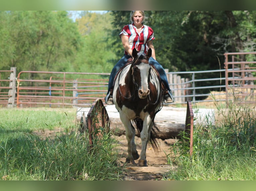
[[[124,55],[112,69],[110,77],[109,77],[108,93],[113,88],[113,83],[114,83],[114,79],[115,79],[117,72],[119,71],[120,68],[122,68],[127,63],[127,60],[129,58],[132,58],[132,57],[129,55]],[[160,75],[160,79],[163,82],[164,87],[169,91],[170,87],[169,87],[169,83],[168,83],[166,73],[165,73],[163,67],[152,57],[149,58],[149,63],[154,65],[154,67],[156,68],[156,70],[158,71],[158,73]],[[108,95],[108,93],[107,93],[107,95]]]

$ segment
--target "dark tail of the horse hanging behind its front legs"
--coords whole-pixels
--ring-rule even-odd
[[[154,120],[152,120],[152,121],[154,121]],[[140,132],[142,131],[142,128],[143,128],[143,120],[141,120],[139,118],[136,118],[136,119],[133,119],[133,122],[136,124],[137,130],[138,130],[139,135],[140,135]],[[159,143],[156,140],[156,133],[157,132],[160,132],[160,130],[159,130],[157,124],[155,122],[153,122],[153,127],[150,131],[149,144],[154,149],[155,153],[157,151],[159,151],[159,149],[160,149]]]

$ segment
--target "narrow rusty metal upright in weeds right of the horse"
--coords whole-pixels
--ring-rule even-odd
[[[185,132],[189,135],[189,154],[193,154],[193,131],[194,131],[194,113],[191,101],[187,101],[187,113],[185,122]]]

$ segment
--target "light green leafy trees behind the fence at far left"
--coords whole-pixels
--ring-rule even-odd
[[[17,72],[67,71],[81,46],[76,24],[66,11],[3,11],[0,63]]]

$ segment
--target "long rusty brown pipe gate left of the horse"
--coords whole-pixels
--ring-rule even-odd
[[[24,73],[42,74],[44,77],[47,75],[48,79],[22,79]],[[67,79],[68,75],[81,75],[85,79]],[[96,75],[97,78],[86,79],[88,75]],[[103,100],[107,92],[108,78],[101,79],[98,76],[109,76],[109,73],[22,71],[17,76],[17,107],[85,106],[97,98]],[[23,82],[37,83],[37,86],[24,86]]]

